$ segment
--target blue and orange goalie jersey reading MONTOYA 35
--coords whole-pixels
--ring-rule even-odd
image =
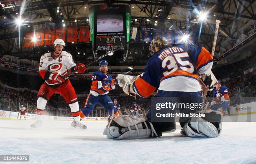
[[[210,73],[212,56],[201,46],[178,45],[160,50],[146,65],[146,72],[135,81],[139,96],[148,97],[156,88],[161,91],[201,91],[197,73]]]

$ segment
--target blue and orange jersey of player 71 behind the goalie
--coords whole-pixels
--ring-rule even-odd
[[[108,94],[108,91],[115,89],[114,81],[110,84],[105,83],[105,78],[112,78],[108,73],[102,73],[101,71],[96,71],[92,74],[92,86],[91,91],[93,96]]]

